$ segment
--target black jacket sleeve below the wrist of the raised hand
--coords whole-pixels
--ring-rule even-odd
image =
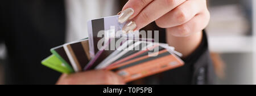
[[[208,49],[207,33],[203,31],[203,39],[199,47],[187,58],[185,64],[192,67],[192,84],[213,84],[214,70]]]

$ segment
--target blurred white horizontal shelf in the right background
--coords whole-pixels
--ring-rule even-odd
[[[253,52],[253,37],[209,37],[209,49],[216,53],[251,53]]]

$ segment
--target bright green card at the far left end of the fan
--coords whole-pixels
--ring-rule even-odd
[[[54,69],[55,71],[58,71],[60,73],[72,73],[72,71],[70,71],[69,68],[65,66],[65,64],[57,58],[57,56],[53,54],[51,56],[48,56],[48,58],[42,60],[41,63],[44,66]]]

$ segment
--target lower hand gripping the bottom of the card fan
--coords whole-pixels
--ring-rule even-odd
[[[57,85],[123,85],[122,77],[110,71],[96,70],[71,75],[63,74]]]

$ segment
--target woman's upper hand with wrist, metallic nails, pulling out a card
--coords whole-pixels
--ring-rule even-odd
[[[129,20],[123,30],[138,30],[155,21],[166,28],[167,42],[187,56],[199,46],[210,14],[206,0],[129,0],[119,23]]]

